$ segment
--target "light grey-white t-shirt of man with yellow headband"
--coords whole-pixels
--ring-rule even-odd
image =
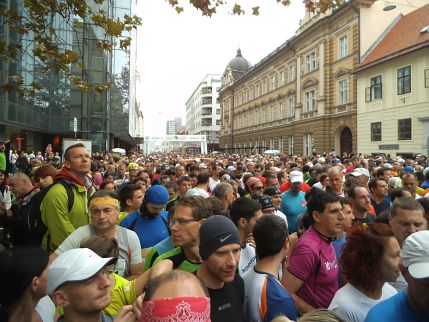
[[[115,270],[117,270],[116,274],[127,277],[130,275],[130,265],[143,262],[140,240],[134,231],[121,226],[117,226],[117,228],[116,238],[119,246],[119,257],[115,265]],[[96,236],[92,225],[79,227],[58,246],[55,253],[60,255],[66,250],[79,248],[82,240],[90,236]]]

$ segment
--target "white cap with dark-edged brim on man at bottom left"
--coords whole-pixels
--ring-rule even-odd
[[[54,293],[65,283],[87,280],[116,260],[116,257],[102,258],[88,248],[65,251],[48,268],[48,293]]]

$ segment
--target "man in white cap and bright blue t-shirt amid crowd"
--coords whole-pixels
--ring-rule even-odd
[[[291,171],[289,174],[290,188],[282,193],[281,211],[286,215],[289,232],[298,230],[296,221],[298,216],[307,211],[305,193],[301,191],[304,175],[301,171]]]

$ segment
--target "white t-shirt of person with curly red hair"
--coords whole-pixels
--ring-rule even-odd
[[[347,283],[335,293],[329,310],[353,322],[364,322],[368,311],[376,304],[387,300],[398,293],[392,286],[384,283],[381,297],[378,300],[371,299]]]

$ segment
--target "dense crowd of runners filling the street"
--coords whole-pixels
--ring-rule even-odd
[[[0,321],[429,321],[423,155],[14,154]]]

